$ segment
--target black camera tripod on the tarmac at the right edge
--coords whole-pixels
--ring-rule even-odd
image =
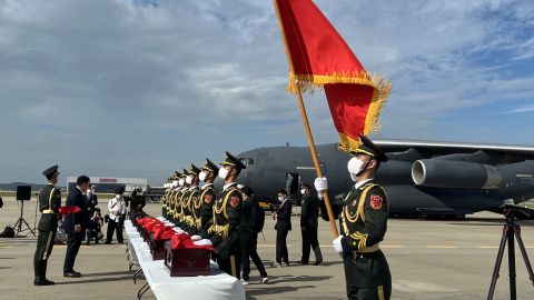
[[[504,210],[505,217],[506,217],[506,223],[504,224],[504,228],[503,228],[503,237],[501,238],[501,246],[498,247],[497,260],[495,262],[495,269],[493,270],[492,284],[490,286],[487,300],[493,299],[493,294],[495,292],[495,284],[497,283],[498,271],[501,269],[501,263],[503,262],[504,248],[506,247],[506,243],[508,244],[510,299],[516,300],[517,298],[516,281],[515,281],[514,238],[515,240],[517,240],[521,254],[523,256],[523,260],[525,261],[526,270],[528,271],[528,278],[534,284],[534,272],[532,271],[532,266],[525,250],[525,244],[523,243],[523,239],[521,238],[521,227],[518,223],[515,222],[517,219],[517,216],[520,214],[525,216],[525,213],[531,213],[531,212],[530,211],[525,212],[521,210],[522,209],[520,208],[506,208]]]

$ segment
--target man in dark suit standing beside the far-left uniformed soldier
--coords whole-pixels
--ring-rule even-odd
[[[87,176],[80,176],[76,180],[76,188],[69,191],[67,197],[67,207],[78,207],[80,212],[67,214],[65,217],[65,232],[68,236],[67,239],[67,253],[65,254],[63,263],[63,277],[78,278],[81,273],[75,271],[76,256],[80,250],[81,242],[83,241],[83,234],[86,229],[90,226],[90,218],[87,210],[87,198],[83,191],[89,188],[89,178]]]

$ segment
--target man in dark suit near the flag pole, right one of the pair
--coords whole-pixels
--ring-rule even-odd
[[[303,257],[298,263],[308,264],[309,249],[314,249],[315,266],[323,262],[319,241],[317,239],[317,226],[319,217],[319,199],[312,188],[303,183],[300,186],[300,194],[303,196],[303,206],[300,212],[300,231],[303,234]]]

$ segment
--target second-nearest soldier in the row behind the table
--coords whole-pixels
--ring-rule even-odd
[[[214,181],[219,172],[219,168],[209,159],[206,159],[206,163],[200,169],[202,171],[198,174],[198,179],[204,181],[204,186],[200,188],[197,199],[200,202],[200,208],[198,208],[197,203],[195,207],[195,216],[197,218],[198,234],[206,236],[208,229],[214,223],[214,203],[217,199]]]

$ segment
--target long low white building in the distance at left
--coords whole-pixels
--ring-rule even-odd
[[[148,180],[146,178],[118,178],[118,177],[89,177],[91,184],[96,186],[98,193],[113,193],[119,188],[131,192],[134,189],[140,188],[147,190]],[[67,191],[76,187],[77,177],[67,178]]]

